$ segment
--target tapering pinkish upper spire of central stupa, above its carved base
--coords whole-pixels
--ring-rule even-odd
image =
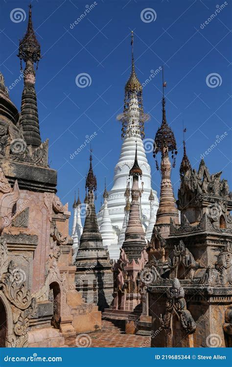
[[[122,250],[127,255],[129,261],[137,260],[141,256],[141,252],[146,246],[144,230],[142,228],[140,218],[139,199],[141,197],[142,189],[139,189],[139,176],[142,176],[142,170],[137,161],[137,146],[134,165],[130,170],[130,176],[133,177],[133,184],[131,189],[131,207],[129,212],[129,220],[125,231],[125,241],[122,245]],[[143,184],[142,184],[143,186]]]

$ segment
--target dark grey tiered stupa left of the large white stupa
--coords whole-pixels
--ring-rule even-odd
[[[109,253],[103,247],[96,219],[94,206],[96,177],[93,174],[92,154],[90,155],[86,188],[88,189],[88,206],[75,261],[76,290],[81,293],[87,303],[94,302],[98,305],[99,310],[104,310],[113,299],[113,272]]]

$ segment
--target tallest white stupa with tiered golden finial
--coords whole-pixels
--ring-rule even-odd
[[[133,45],[133,32],[132,32]],[[150,219],[150,202],[149,196],[151,191],[151,167],[148,164],[143,141],[144,137],[144,121],[148,119],[148,115],[143,112],[142,105],[142,86],[135,72],[133,47],[132,47],[132,71],[129,80],[125,85],[124,111],[117,117],[122,122],[122,138],[121,154],[115,167],[114,185],[109,191],[108,210],[111,223],[116,235],[120,236],[125,212],[124,193],[127,187],[127,179],[129,171],[133,166],[136,151],[136,142],[138,150],[139,167],[142,169],[143,193],[141,196],[141,215],[144,230],[148,227]],[[159,202],[157,192],[152,190],[154,195],[154,212],[156,213]],[[97,214],[98,225],[101,225],[104,206],[101,206]],[[113,250],[113,247],[112,247]],[[111,247],[109,248],[112,257]],[[119,244],[118,244],[119,256]],[[113,258],[113,257],[112,257]],[[114,253],[115,258],[115,253]]]

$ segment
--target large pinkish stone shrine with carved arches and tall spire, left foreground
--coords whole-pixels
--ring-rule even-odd
[[[21,116],[0,73],[0,346],[57,347],[65,335],[101,327],[101,315],[75,290],[70,212],[56,196],[57,172],[40,138],[31,7],[19,57]]]

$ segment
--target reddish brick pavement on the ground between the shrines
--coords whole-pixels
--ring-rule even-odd
[[[124,320],[102,320],[102,329],[65,338],[69,347],[150,347],[151,338],[125,334]]]

